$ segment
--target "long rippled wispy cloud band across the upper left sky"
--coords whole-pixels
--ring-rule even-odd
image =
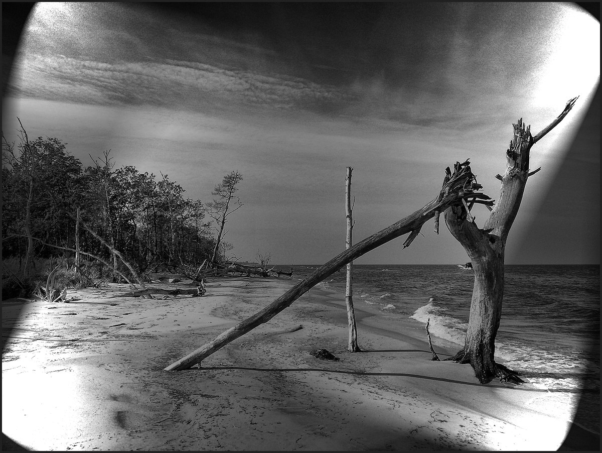
[[[319,108],[350,98],[302,78],[228,70],[203,63],[101,63],[26,54],[10,83],[14,94],[85,104],[194,105],[192,99],[272,109]],[[197,104],[202,106],[202,104]],[[202,106],[206,107],[206,106]]]

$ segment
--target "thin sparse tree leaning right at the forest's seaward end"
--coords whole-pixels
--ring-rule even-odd
[[[209,215],[216,221],[215,228],[217,230],[216,244],[213,249],[213,254],[211,255],[211,260],[209,260],[209,266],[214,266],[216,264],[218,252],[220,250],[220,242],[222,242],[223,237],[228,233],[228,231],[224,233],[224,227],[226,222],[228,222],[228,216],[243,206],[243,203],[240,202],[240,198],[234,195],[234,192],[238,190],[238,183],[242,180],[242,175],[233,171],[223,177],[222,183],[214,187],[213,192],[211,192],[211,195],[216,195],[219,198],[214,199],[213,202],[207,204],[209,207]],[[232,205],[236,207],[232,209]]]

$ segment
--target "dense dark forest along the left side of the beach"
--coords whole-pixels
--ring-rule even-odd
[[[161,171],[118,167],[111,150],[84,165],[60,139],[2,133],[3,298],[31,295],[54,268],[57,287],[85,287],[232,264],[223,237],[241,180],[228,173],[203,202]]]

